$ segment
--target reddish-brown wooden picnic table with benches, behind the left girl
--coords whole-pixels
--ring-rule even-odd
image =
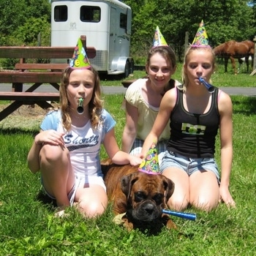
[[[86,47],[86,36],[81,36],[83,47],[89,59],[96,56],[95,48]],[[51,108],[51,101],[59,100],[61,72],[72,59],[75,47],[31,47],[1,46],[0,58],[20,59],[14,70],[0,69],[0,83],[12,83],[12,91],[0,91],[0,100],[13,101],[1,110],[0,121],[20,108],[21,105],[37,104],[43,109]],[[66,59],[66,63],[26,63],[27,59]],[[29,89],[23,91],[23,84],[29,83]],[[35,91],[42,85],[51,85],[56,92]]]

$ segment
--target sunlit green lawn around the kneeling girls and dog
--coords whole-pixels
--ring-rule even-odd
[[[237,78],[237,77],[236,77]],[[121,143],[124,95],[105,95],[105,108],[117,121]],[[149,236],[113,224],[111,205],[102,217],[83,219],[69,208],[66,219],[53,218],[53,207],[39,200],[39,173],[31,174],[26,157],[37,126],[0,127],[0,255],[255,255],[256,98],[232,97],[234,159],[230,191],[236,209],[224,204],[195,222],[173,217],[178,230]],[[102,149],[102,158],[106,157]],[[217,140],[219,162],[219,140]],[[183,235],[181,235],[182,233]]]

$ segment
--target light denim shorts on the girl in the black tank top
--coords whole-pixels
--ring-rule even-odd
[[[197,170],[208,170],[215,174],[219,182],[219,170],[214,158],[189,158],[171,151],[165,151],[160,165],[161,173],[168,167],[177,167],[184,170],[188,176]]]

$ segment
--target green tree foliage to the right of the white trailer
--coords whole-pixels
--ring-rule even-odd
[[[253,39],[256,34],[253,8],[244,0],[157,2],[125,0],[124,2],[132,7],[132,53],[134,54],[138,49],[142,54],[146,54],[157,25],[169,45],[176,50],[179,59],[184,53],[186,31],[189,32],[189,42],[192,42],[202,19],[206,24],[212,46],[230,39],[237,41]],[[138,7],[138,4],[141,6]]]

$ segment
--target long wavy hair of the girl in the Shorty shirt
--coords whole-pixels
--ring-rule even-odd
[[[69,76],[74,69],[67,67],[61,74],[61,86],[60,92],[60,104],[61,104],[61,121],[64,129],[69,131],[71,129],[71,118],[69,116],[69,101],[67,99],[67,86],[69,85]],[[94,73],[94,91],[89,102],[89,115],[91,121],[91,127],[96,129],[100,124],[100,115],[102,113],[103,101],[100,99],[100,80],[99,74],[96,69],[91,67],[89,70]]]

